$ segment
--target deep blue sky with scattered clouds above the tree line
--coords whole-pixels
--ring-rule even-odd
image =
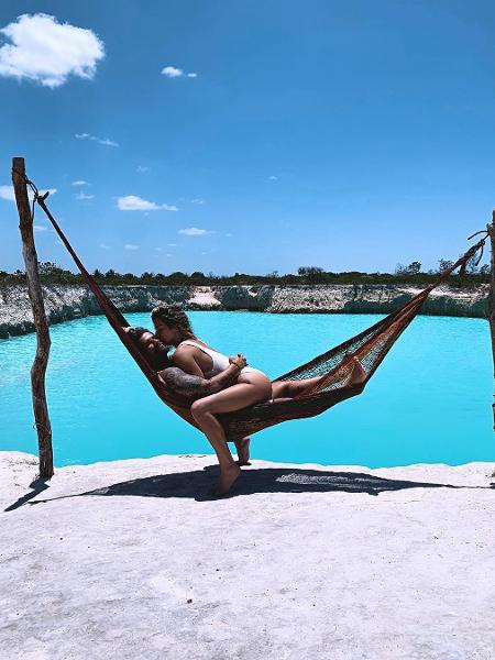
[[[0,270],[15,155],[90,270],[430,268],[491,219],[493,2],[3,0],[0,29]]]

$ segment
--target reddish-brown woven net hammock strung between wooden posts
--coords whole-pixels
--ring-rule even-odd
[[[85,268],[64,232],[46,207],[45,198],[46,195],[44,197],[35,195],[37,204],[46,213],[55,231],[74,258],[80,273],[86,279],[88,287],[96,296],[110,326],[131,353],[160,398],[175,413],[180,415],[180,417],[197,427],[189,411],[190,402],[178,397],[167,389],[158,374],[147,362],[146,358],[139,351],[133,340],[123,331],[123,328],[129,327],[128,321]],[[399,309],[393,311],[371,328],[363,330],[360,334],[348,339],[338,346],[334,346],[310,362],[301,364],[293,371],[278,376],[278,378],[274,381],[299,381],[321,376],[316,385],[312,385],[310,388],[307,388],[289,400],[266,402],[219,416],[228,440],[233,441],[245,438],[246,436],[288,419],[314,417],[344,399],[361,394],[382,360],[421,309],[422,304],[429,294],[442,284],[457,268],[460,268],[460,273],[462,274],[465,271],[468,261],[472,258],[479,250],[483,250],[485,240],[486,239],[482,239],[475,245],[470,248],[452,266],[440,274],[437,282],[414,296]],[[356,361],[359,361],[363,367],[363,372],[358,382],[355,378],[352,378]]]

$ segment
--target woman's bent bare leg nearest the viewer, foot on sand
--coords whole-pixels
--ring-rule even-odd
[[[263,402],[270,397],[271,389],[266,376],[250,374],[249,378],[243,376],[242,382],[238,382],[222,392],[194,402],[190,408],[191,415],[210,441],[220,464],[220,477],[216,491],[218,495],[229,492],[241,470],[230,453],[226,433],[215,415],[240,410]]]

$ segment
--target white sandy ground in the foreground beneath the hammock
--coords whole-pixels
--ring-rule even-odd
[[[1,660],[495,658],[495,464],[213,463],[0,453]]]

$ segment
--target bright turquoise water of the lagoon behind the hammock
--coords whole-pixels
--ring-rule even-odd
[[[372,315],[191,312],[199,337],[243,352],[275,377],[371,326]],[[150,326],[148,315],[128,315]],[[51,329],[47,396],[55,463],[211,453],[165,407],[102,317]],[[36,452],[31,410],[33,334],[0,340],[0,450]],[[252,455],[370,468],[494,461],[492,355],[486,321],[418,317],[364,394],[326,414],[253,437]]]

